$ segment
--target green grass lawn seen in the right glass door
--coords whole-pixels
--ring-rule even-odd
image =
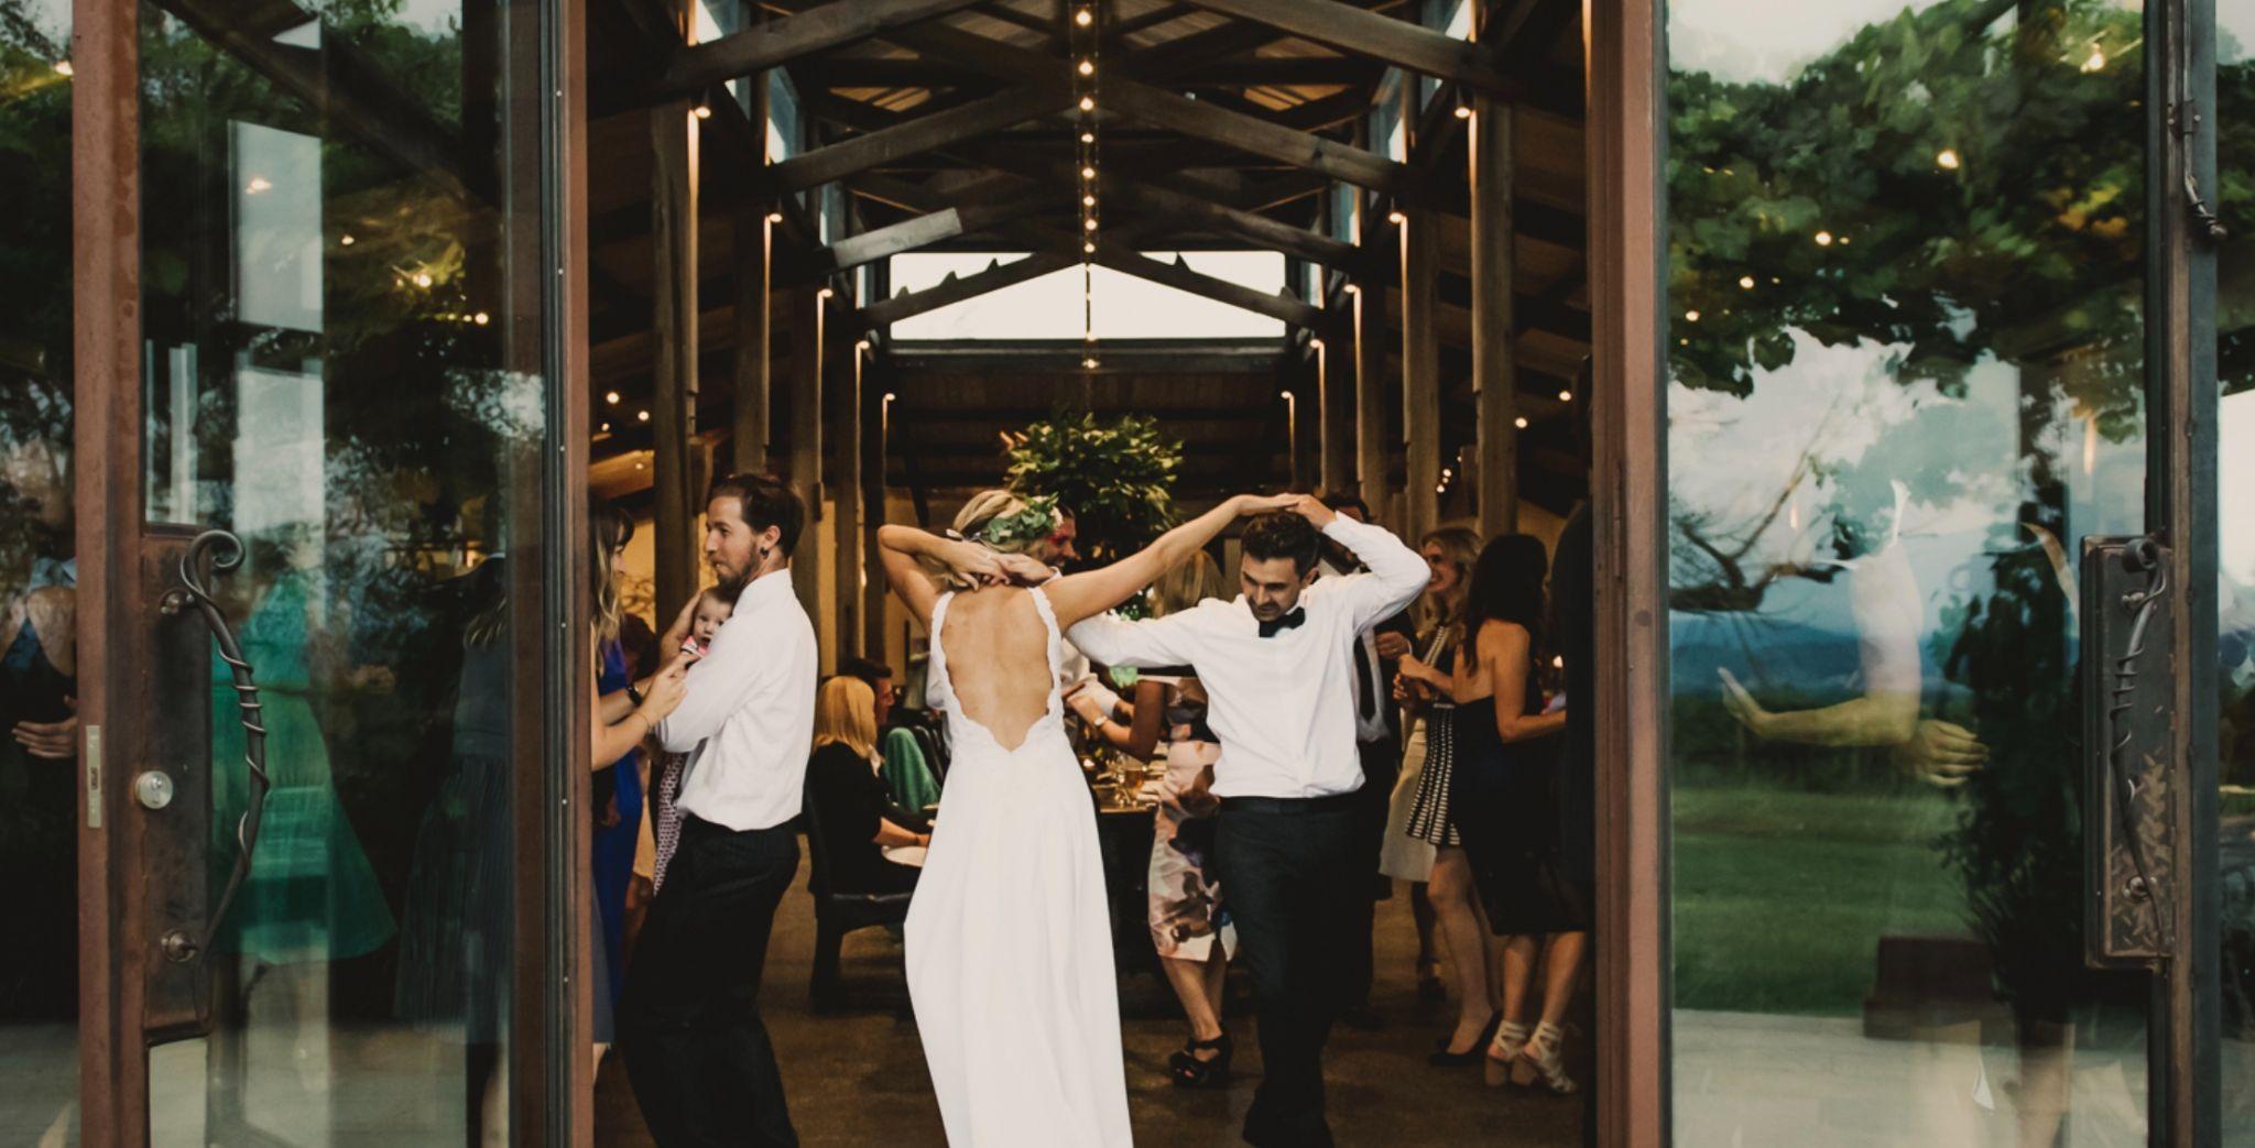
[[[1675,789],[1675,1006],[1854,1015],[1883,934],[1964,934],[1951,798]]]

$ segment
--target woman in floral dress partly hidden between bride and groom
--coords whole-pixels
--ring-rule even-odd
[[[1182,613],[1222,593],[1222,568],[1200,550],[1152,584],[1152,618]],[[1100,738],[1130,758],[1150,758],[1166,744],[1166,776],[1152,810],[1148,916],[1159,968],[1191,1022],[1188,1042],[1168,1056],[1168,1074],[1184,1087],[1227,1083],[1236,1049],[1222,1026],[1222,981],[1238,947],[1238,927],[1209,864],[1213,814],[1220,810],[1211,789],[1213,762],[1222,747],[1206,726],[1206,690],[1188,672],[1141,674],[1130,724],[1103,715],[1087,695],[1076,695],[1073,704]]]

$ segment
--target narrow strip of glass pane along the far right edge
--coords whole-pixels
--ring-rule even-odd
[[[2223,1143],[2255,1143],[2255,0],[2217,2],[2217,647]]]

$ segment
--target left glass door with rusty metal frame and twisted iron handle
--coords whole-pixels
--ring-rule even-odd
[[[510,1143],[564,936],[546,7],[97,5],[99,1139]]]

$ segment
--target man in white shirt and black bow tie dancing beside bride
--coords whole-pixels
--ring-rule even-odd
[[[1315,582],[1326,537],[1369,571]],[[1071,638],[1105,665],[1191,665],[1211,697],[1215,866],[1254,979],[1265,1074],[1245,1139],[1324,1148],[1324,1040],[1358,943],[1355,898],[1339,891],[1371,882],[1353,652],[1418,595],[1427,568],[1394,535],[1312,496],[1247,523],[1240,546],[1238,600],[1141,622],[1091,618]]]

